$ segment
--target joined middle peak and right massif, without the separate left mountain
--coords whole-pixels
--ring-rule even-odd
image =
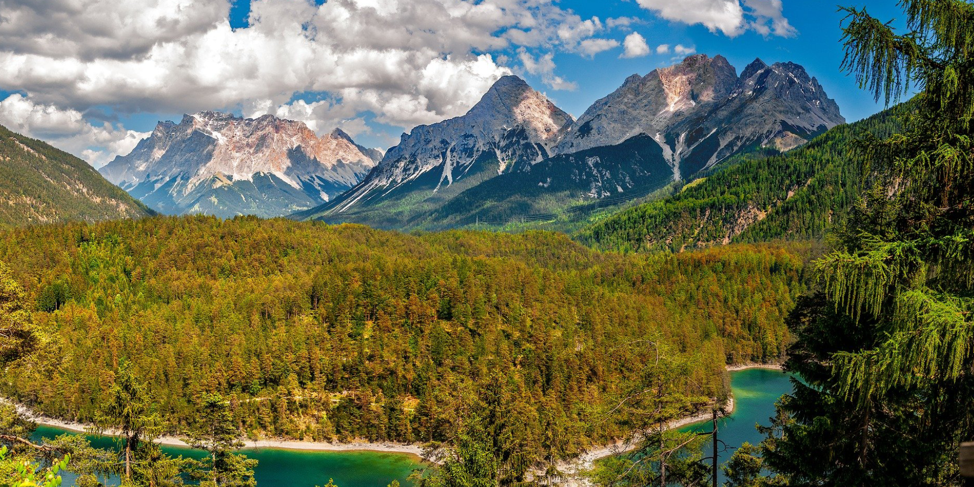
[[[844,122],[792,62],[755,59],[737,75],[723,56],[689,56],[630,76],[577,121],[507,76],[468,114],[403,134],[351,191],[294,217],[387,228],[504,222],[646,195]]]

